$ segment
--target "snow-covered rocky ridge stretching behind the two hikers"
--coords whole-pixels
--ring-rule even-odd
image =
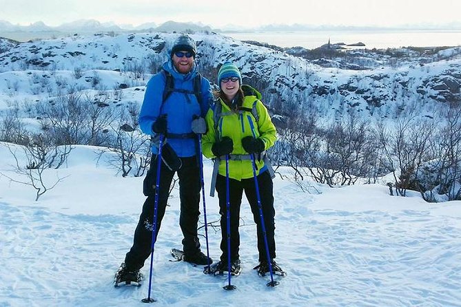
[[[108,89],[130,82],[143,86],[148,75],[167,59],[175,37],[132,33],[75,34],[28,43],[0,39],[3,107],[19,93],[30,100],[48,99],[53,94],[45,95],[45,88],[59,88],[63,79],[65,86],[92,89],[94,83],[89,80],[94,74],[108,78],[102,82]],[[326,50],[325,58],[318,50],[318,59],[307,59],[303,48],[266,47],[213,33],[192,37],[198,45],[197,61],[204,76],[216,81],[216,67],[233,61],[240,67],[244,82],[260,89],[266,105],[282,115],[308,108],[329,120],[349,112],[374,118],[416,112],[434,118],[440,107],[461,97],[461,47],[347,50],[342,56]],[[76,70],[86,78],[74,78]],[[139,73],[137,80],[127,74],[134,70]],[[47,80],[41,81],[43,78]],[[127,91],[132,90],[128,87]]]

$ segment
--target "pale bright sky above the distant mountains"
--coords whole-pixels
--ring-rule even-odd
[[[458,0],[0,0],[0,20],[57,26],[79,19],[118,25],[192,21],[218,28],[267,24],[433,25],[460,21]],[[276,9],[275,9],[276,8]]]

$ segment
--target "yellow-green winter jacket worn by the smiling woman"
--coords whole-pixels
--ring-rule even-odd
[[[224,136],[232,138],[234,142],[234,150],[232,155],[248,155],[248,153],[242,147],[242,139],[245,136],[254,136],[263,140],[265,149],[269,149],[276,142],[276,127],[272,123],[272,120],[267,112],[267,108],[259,100],[260,93],[249,87],[249,85],[243,85],[246,87],[246,95],[243,98],[243,104],[241,107],[245,108],[239,111],[232,112],[231,109],[218,98],[215,106],[208,110],[205,120],[207,122],[207,134],[202,138],[203,155],[207,158],[216,158],[212,153],[212,146],[216,140],[221,140]],[[250,90],[249,90],[250,89]],[[217,109],[216,104],[221,104],[222,116],[218,118],[218,123],[214,123],[217,116],[214,116],[214,111]],[[255,116],[252,114],[253,106],[256,107],[258,114],[258,121],[256,122]],[[252,127],[254,127],[252,131]],[[257,155],[256,155],[257,157]],[[264,165],[264,161],[255,159],[256,162],[256,175],[265,171],[267,167]],[[222,159],[219,165],[218,173],[222,176],[226,175],[225,160]],[[241,180],[245,178],[253,178],[253,167],[252,160],[229,160],[229,178]]]

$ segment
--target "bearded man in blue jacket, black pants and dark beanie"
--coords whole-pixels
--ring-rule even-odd
[[[163,70],[152,76],[147,83],[139,115],[141,130],[154,138],[152,162],[143,187],[147,199],[134,232],[133,246],[116,273],[115,286],[139,285],[142,278],[139,269],[151,253],[160,134],[165,136],[165,144],[162,149],[156,234],[165,214],[172,178],[177,172],[184,260],[203,265],[212,262],[201,252],[197,236],[201,190],[197,134],[206,132],[203,118],[209,109],[212,91],[209,81],[198,74],[195,57],[195,42],[187,35],[178,36],[170,52],[170,59],[163,64]]]

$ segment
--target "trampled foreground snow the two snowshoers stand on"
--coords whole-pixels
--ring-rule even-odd
[[[96,163],[95,151],[76,147],[67,165],[48,169],[50,178],[56,171],[68,177],[37,202],[31,187],[0,177],[0,306],[135,306],[147,297],[150,260],[141,287],[112,285],[141,213],[143,178],[115,176],[104,159]],[[0,157],[0,172],[14,176],[4,143]],[[211,173],[205,159],[207,195]],[[319,193],[274,180],[277,262],[287,271],[275,288],[252,270],[256,226],[244,198],[243,272],[232,278],[234,291],[223,290],[227,276],[170,262],[182,239],[174,189],[155,245],[154,306],[461,306],[461,202],[391,196],[379,184],[306,184]],[[205,201],[216,225],[218,200]],[[211,226],[208,233],[216,260],[221,235]],[[204,237],[201,243],[206,251]]]

